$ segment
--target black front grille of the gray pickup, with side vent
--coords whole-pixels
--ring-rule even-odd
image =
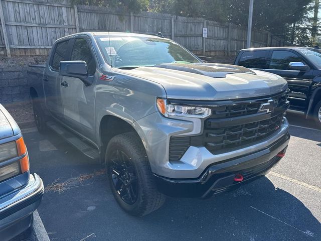
[[[269,99],[273,100],[273,111],[258,113],[261,104]],[[202,135],[171,138],[169,160],[180,160],[190,146],[204,146],[211,153],[224,153],[268,138],[281,127],[288,106],[287,92],[265,99],[212,105],[212,115],[205,120]]]

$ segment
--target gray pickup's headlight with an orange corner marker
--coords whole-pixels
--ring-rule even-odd
[[[164,116],[182,116],[205,118],[211,115],[211,109],[198,106],[187,106],[178,104],[168,104],[166,99],[158,98],[156,101],[157,108]]]

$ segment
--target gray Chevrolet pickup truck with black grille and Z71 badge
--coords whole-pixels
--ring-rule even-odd
[[[29,83],[39,131],[100,158],[118,204],[135,216],[165,195],[206,198],[264,176],[290,138],[280,76],[203,63],[157,36],[66,36]]]

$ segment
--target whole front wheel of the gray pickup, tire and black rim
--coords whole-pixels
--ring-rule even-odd
[[[156,188],[145,149],[134,133],[109,141],[105,165],[111,191],[123,210],[144,216],[163,205],[165,196]]]

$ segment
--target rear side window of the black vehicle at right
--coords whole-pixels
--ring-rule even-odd
[[[265,69],[266,51],[243,52],[238,65],[246,68]]]

